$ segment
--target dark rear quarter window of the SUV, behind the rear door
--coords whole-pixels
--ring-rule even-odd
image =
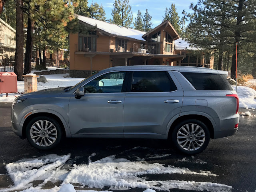
[[[182,75],[196,90],[233,90],[225,74],[183,72]]]

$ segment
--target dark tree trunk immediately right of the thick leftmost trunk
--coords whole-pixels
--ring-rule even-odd
[[[31,72],[31,57],[33,48],[33,32],[34,32],[34,21],[28,16],[28,30],[26,40],[26,53],[25,53],[25,65],[23,74],[26,75]]]

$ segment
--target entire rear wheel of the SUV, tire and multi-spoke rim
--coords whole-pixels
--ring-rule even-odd
[[[188,119],[174,127],[172,142],[182,153],[198,154],[208,146],[210,132],[203,122]]]

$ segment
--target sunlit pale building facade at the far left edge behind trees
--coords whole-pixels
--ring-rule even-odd
[[[0,19],[0,60],[10,57],[14,59],[16,46],[15,36],[15,30]]]

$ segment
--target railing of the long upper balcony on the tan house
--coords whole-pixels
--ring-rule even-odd
[[[76,52],[138,52],[145,54],[154,54],[155,47],[137,43],[123,44],[75,44]]]

